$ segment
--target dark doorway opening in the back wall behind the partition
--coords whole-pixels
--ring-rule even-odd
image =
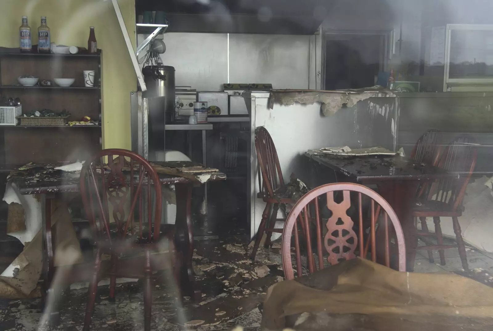
[[[390,33],[330,33],[324,37],[325,90],[375,85],[375,76],[387,66]]]

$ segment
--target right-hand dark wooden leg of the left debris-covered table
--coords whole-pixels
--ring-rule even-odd
[[[195,289],[192,269],[193,229],[192,229],[192,184],[175,184],[176,192],[176,250],[181,254],[180,287],[183,295],[191,296],[196,302],[201,293]]]

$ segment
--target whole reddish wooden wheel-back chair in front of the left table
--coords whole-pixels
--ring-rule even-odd
[[[84,163],[80,173],[80,191],[97,247],[83,330],[88,331],[91,323],[98,280],[101,277],[101,255],[111,255],[109,296],[114,298],[118,258],[131,253],[134,256],[143,255],[143,263],[136,263],[136,268],[143,270],[133,270],[130,277],[143,271],[144,330],[149,331],[153,269],[172,268],[176,282],[179,279],[179,259],[175,254],[173,229],[165,234],[165,239],[160,240],[163,228],[158,175],[149,162],[132,151],[105,149]],[[110,223],[110,218],[114,223]],[[154,262],[151,261],[153,252],[162,253],[159,257],[153,255]],[[160,261],[156,262],[156,258]]]

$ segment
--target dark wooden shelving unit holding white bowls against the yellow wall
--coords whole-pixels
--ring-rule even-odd
[[[99,125],[0,126],[0,172],[28,162],[83,160],[102,148],[101,50],[98,54],[0,52],[0,97],[20,98],[22,112],[67,110],[69,121],[84,116]],[[96,86],[85,87],[83,71],[96,72]],[[74,78],[70,87],[19,86],[17,77]]]

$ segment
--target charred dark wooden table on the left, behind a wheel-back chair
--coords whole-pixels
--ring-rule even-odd
[[[156,166],[157,165],[157,166]],[[200,292],[194,287],[192,269],[193,232],[191,218],[192,187],[212,181],[225,180],[226,175],[220,172],[194,173],[184,175],[169,175],[159,173],[158,168],[176,169],[183,166],[181,162],[154,162],[161,184],[174,184],[176,192],[176,250],[182,253],[181,288],[184,295],[199,296]],[[45,294],[51,289],[54,268],[54,238],[51,229],[51,202],[60,193],[79,192],[80,172],[64,172],[54,169],[54,164],[36,164],[24,170],[15,170],[10,173],[9,180],[19,189],[21,194],[39,194],[42,210],[43,231],[43,277]]]

